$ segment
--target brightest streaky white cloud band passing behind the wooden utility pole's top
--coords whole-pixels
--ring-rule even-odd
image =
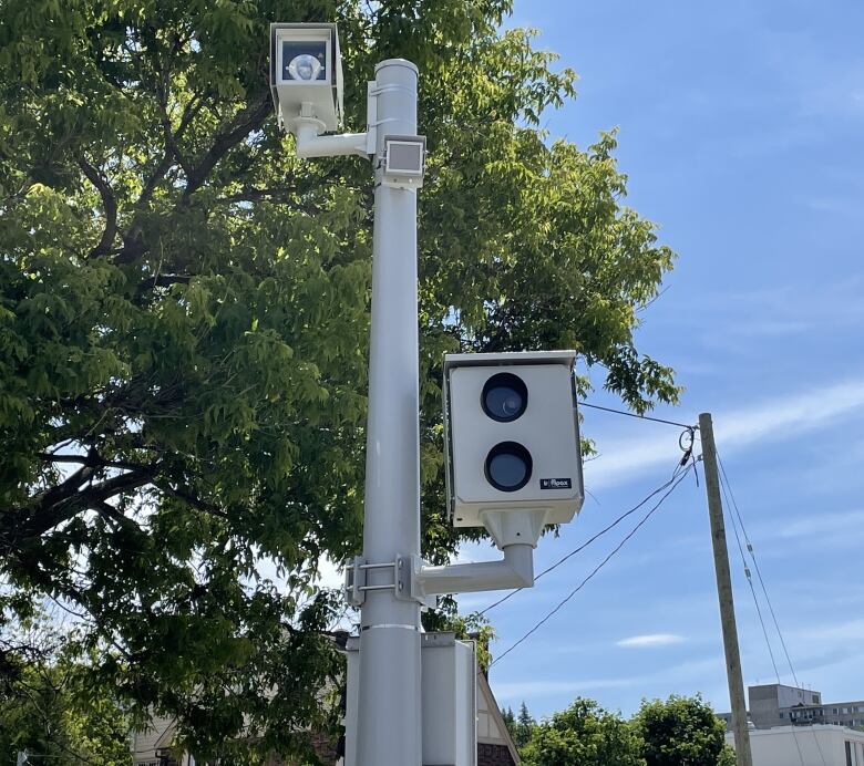
[[[755,444],[817,431],[855,412],[864,412],[864,379],[774,396],[741,410],[714,413],[714,433],[723,455]],[[687,416],[678,415],[675,420]],[[696,416],[689,420],[696,422]],[[601,455],[585,466],[586,487],[619,484],[658,466],[673,467],[677,435],[654,435],[621,444],[600,444]]]

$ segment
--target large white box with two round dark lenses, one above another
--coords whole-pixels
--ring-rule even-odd
[[[584,490],[574,351],[444,356],[448,503],[456,527],[497,511],[564,524]],[[495,511],[492,514],[491,511]]]

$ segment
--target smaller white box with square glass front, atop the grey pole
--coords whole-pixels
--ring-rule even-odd
[[[299,118],[339,128],[342,61],[336,24],[270,24],[270,91],[286,130]]]

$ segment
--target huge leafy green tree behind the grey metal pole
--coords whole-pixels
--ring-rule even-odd
[[[430,558],[456,542],[444,351],[575,348],[636,411],[677,397],[634,341],[672,253],[623,206],[611,134],[539,130],[574,74],[500,31],[510,7],[0,0],[0,605],[62,599],[102,682],[196,753],[332,723],[315,578],[360,546],[371,173],[292,156],[271,21],[339,22],[352,127],[374,62],[422,72]]]

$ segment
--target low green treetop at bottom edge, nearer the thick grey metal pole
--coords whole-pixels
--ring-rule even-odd
[[[645,766],[634,727],[584,698],[537,724],[520,754],[526,766]]]

